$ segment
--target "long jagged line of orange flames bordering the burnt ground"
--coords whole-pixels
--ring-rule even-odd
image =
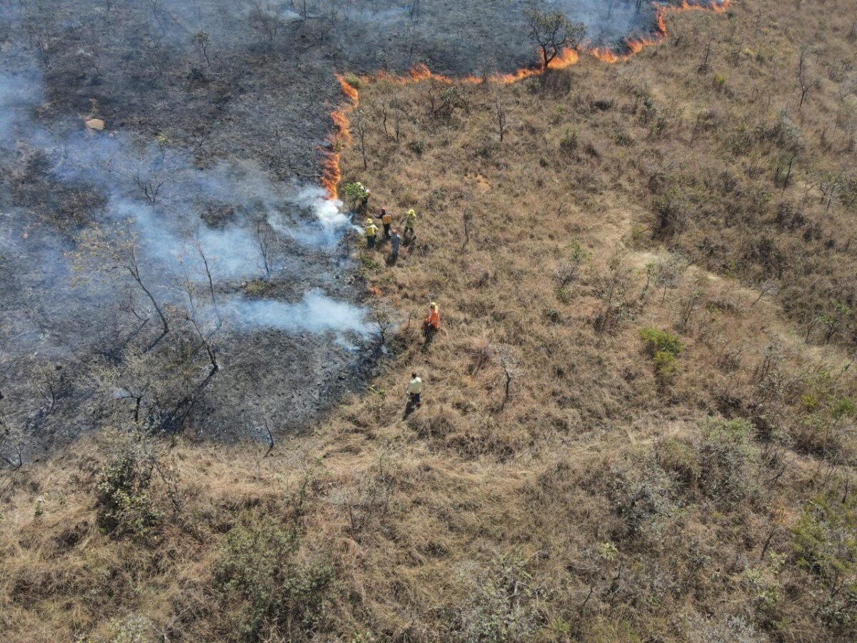
[[[667,38],[667,21],[666,15],[670,12],[679,11],[713,11],[717,14],[726,13],[732,0],[708,0],[707,3],[688,3],[687,0],[682,0],[681,6],[673,7],[657,7],[655,15],[655,23],[657,26],[656,35],[652,38],[644,36],[632,36],[626,39],[626,53],[617,53],[608,47],[592,47],[584,46],[583,52],[596,58],[602,63],[614,64],[624,63],[630,60],[633,56],[643,51],[645,47],[658,45]],[[565,69],[580,62],[580,53],[577,49],[565,49],[548,63],[548,69]],[[453,82],[461,82],[466,84],[476,84],[481,82],[499,82],[504,85],[512,84],[513,82],[523,81],[530,76],[542,75],[543,67],[524,68],[512,74],[495,74],[491,76],[464,76],[461,78],[452,79],[449,76],[435,74],[431,69],[428,69],[423,63],[417,64],[411,69],[411,72],[406,76],[390,74],[387,71],[378,72],[375,77],[379,80],[395,82],[399,85],[407,85],[423,81],[441,82],[445,85],[452,85]],[[321,185],[327,189],[327,194],[332,199],[339,195],[339,181],[342,179],[342,169],[339,162],[342,159],[340,150],[351,144],[351,122],[348,115],[357,109],[360,104],[360,93],[356,87],[350,85],[342,75],[336,74],[336,80],[339,81],[339,86],[342,87],[342,92],[345,93],[347,101],[345,105],[338,110],[333,111],[331,118],[335,129],[333,134],[328,139],[329,149],[324,150],[325,159],[322,161]],[[361,81],[369,81],[369,78],[362,78]]]

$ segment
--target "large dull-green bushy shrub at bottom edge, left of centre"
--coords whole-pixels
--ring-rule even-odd
[[[298,564],[298,538],[268,516],[251,516],[226,534],[214,569],[232,640],[303,640],[324,628],[336,598],[327,562]]]

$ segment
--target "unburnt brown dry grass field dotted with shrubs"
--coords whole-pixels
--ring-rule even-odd
[[[353,240],[375,380],[267,455],[119,428],[4,474],[4,638],[854,640],[855,13],[345,76],[343,183],[420,217],[394,266]]]

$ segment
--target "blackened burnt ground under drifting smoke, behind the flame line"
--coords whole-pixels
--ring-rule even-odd
[[[654,29],[650,3],[542,5],[598,45]],[[360,387],[379,341],[317,187],[333,73],[530,66],[527,6],[0,0],[7,462],[104,424],[298,430]]]

